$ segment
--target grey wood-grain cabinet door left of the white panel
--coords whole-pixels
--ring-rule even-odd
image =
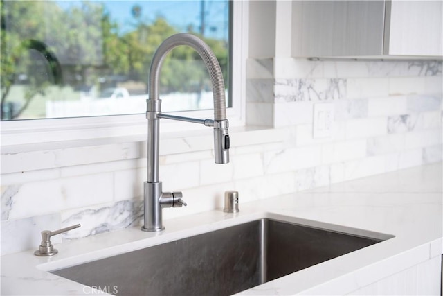
[[[383,54],[385,1],[293,1],[292,55]]]

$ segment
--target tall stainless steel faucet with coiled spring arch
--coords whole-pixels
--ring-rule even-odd
[[[213,85],[214,119],[192,119],[161,113],[159,99],[159,74],[165,56],[175,47],[187,45],[195,49],[204,60]],[[161,209],[163,207],[186,206],[181,192],[163,192],[159,182],[159,123],[160,119],[174,119],[201,123],[214,128],[214,155],[216,164],[229,162],[228,119],[226,119],[226,101],[224,96],[224,80],[220,65],[208,44],[198,37],[180,33],[168,37],[154,53],[150,67],[149,98],[147,102],[147,182],[144,183],[145,222],[142,230],[159,232],[163,227]]]

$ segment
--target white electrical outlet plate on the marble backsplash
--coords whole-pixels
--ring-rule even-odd
[[[334,125],[334,103],[314,104],[313,137],[331,137],[332,125]]]

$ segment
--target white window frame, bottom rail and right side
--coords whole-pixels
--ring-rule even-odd
[[[246,58],[248,53],[248,1],[231,0],[230,96],[233,106],[226,110],[230,127],[244,126],[246,114]],[[232,28],[235,28],[233,30]],[[148,69],[146,69],[148,71]],[[92,139],[146,136],[147,120],[143,114],[90,116],[63,119],[1,121],[1,146],[29,145],[26,150],[41,150],[44,143],[75,141],[74,146],[88,145]],[[174,112],[179,116],[213,119],[213,110]],[[161,121],[164,132],[207,129],[203,125]],[[87,141],[84,141],[87,140]],[[83,143],[83,144],[80,144]],[[39,144],[39,145],[35,145]],[[48,146],[51,148],[51,146]]]

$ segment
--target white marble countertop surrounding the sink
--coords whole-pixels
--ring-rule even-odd
[[[34,256],[34,250],[1,256],[1,295],[98,295],[48,270],[279,215],[307,225],[327,223],[332,229],[395,237],[240,294],[343,295],[440,256],[442,205],[441,163],[244,204],[240,199],[239,214],[218,210],[165,220],[160,234],[134,227],[57,244],[59,254],[53,257]]]

